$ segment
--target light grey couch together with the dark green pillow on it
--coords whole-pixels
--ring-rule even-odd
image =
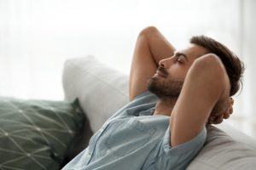
[[[0,168],[61,169],[129,102],[128,81],[90,55],[65,62],[63,100],[0,97]],[[207,127],[206,144],[188,170],[256,169],[256,140],[227,122]]]

